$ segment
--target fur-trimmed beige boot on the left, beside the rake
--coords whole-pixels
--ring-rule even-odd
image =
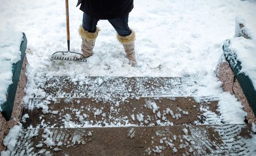
[[[99,29],[97,28],[94,33],[90,33],[83,29],[80,25],[78,29],[79,35],[82,38],[81,51],[84,57],[90,57],[93,55],[93,48],[95,45],[95,40],[99,34]]]

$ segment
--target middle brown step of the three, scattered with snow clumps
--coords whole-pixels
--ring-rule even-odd
[[[197,102],[193,97],[126,98],[114,103],[34,98],[23,113],[25,127],[155,126],[221,123],[217,107],[217,101]]]

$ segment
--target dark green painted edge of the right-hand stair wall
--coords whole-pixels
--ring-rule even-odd
[[[230,53],[228,48],[230,40],[226,40],[224,46],[222,47],[226,60],[228,61],[234,75],[238,79],[240,86],[245,94],[245,97],[256,116],[256,91],[254,90],[253,83],[251,79],[244,73],[241,73],[241,62],[237,60],[237,55],[235,53]]]

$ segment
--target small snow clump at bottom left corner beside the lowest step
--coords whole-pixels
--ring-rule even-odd
[[[1,156],[8,156],[14,150],[19,134],[22,132],[22,124],[13,126],[8,135],[3,140],[4,145],[7,147],[6,151],[1,152]]]

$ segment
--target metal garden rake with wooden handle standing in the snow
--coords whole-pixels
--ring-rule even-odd
[[[70,34],[69,34],[69,1],[66,0],[66,19],[67,19],[67,52],[55,52],[51,56],[51,60],[67,60],[67,61],[79,61],[86,62],[87,59],[80,53],[70,51]]]

